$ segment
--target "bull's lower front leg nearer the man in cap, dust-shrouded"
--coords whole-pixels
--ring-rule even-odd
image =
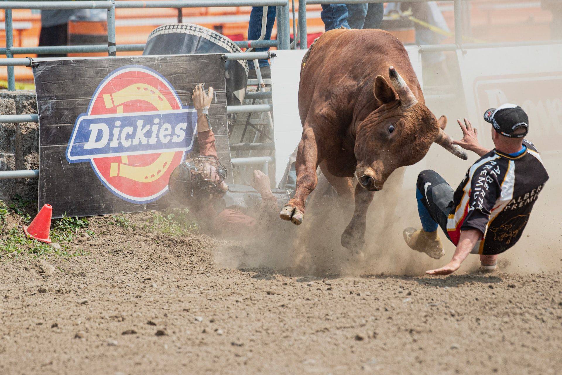
[[[365,228],[367,221],[367,210],[373,202],[374,191],[365,190],[361,185],[355,186],[355,211],[350,223],[342,234],[342,246],[352,250],[354,253],[361,253],[365,244]]]

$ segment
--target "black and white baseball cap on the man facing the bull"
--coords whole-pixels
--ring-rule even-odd
[[[484,112],[484,120],[490,122],[501,135],[523,138],[529,132],[529,117],[523,108],[515,104],[502,104]]]

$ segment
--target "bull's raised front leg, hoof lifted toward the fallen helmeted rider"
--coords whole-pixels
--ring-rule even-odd
[[[295,225],[300,225],[305,216],[305,200],[318,183],[316,168],[318,168],[318,142],[319,136],[314,129],[307,126],[302,131],[302,139],[298,144],[296,172],[297,187],[294,196],[279,213],[283,220],[291,220]]]

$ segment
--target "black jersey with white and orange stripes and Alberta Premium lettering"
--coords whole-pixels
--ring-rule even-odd
[[[447,220],[447,234],[456,245],[460,231],[483,233],[472,253],[499,254],[519,240],[531,209],[549,179],[534,145],[518,156],[493,149],[466,172],[454,195]]]

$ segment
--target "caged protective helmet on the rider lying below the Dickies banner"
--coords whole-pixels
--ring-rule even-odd
[[[194,195],[211,194],[226,176],[226,168],[217,159],[198,156],[184,160],[175,168],[170,175],[168,188],[176,200],[185,202]]]

